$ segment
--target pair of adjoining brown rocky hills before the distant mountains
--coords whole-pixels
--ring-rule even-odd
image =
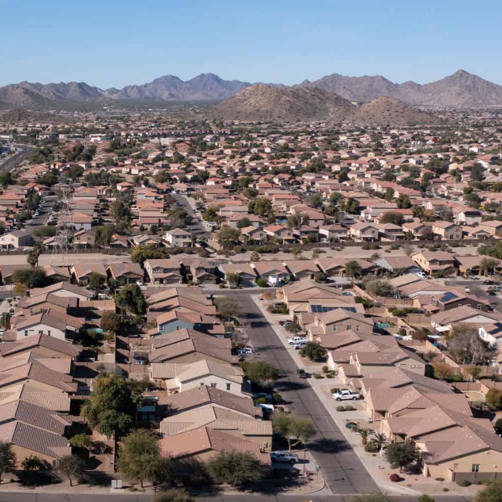
[[[277,88],[255,84],[213,108],[217,118],[242,121],[330,121],[360,124],[438,124],[440,120],[398,99],[382,96],[356,106],[334,92],[296,85]]]

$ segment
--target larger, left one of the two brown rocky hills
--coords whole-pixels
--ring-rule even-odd
[[[355,110],[346,99],[322,89],[270,87],[255,84],[214,107],[218,117],[228,120],[297,122],[339,120]]]

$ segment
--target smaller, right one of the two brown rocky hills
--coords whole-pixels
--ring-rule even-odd
[[[433,114],[425,113],[415,106],[387,96],[378,97],[369,103],[357,106],[346,117],[346,120],[359,124],[392,124],[394,126],[433,125],[441,123]]]

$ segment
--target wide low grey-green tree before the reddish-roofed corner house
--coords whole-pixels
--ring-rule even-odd
[[[215,483],[231,486],[256,484],[268,474],[268,467],[253,455],[240,451],[222,451],[210,458],[207,471]]]

